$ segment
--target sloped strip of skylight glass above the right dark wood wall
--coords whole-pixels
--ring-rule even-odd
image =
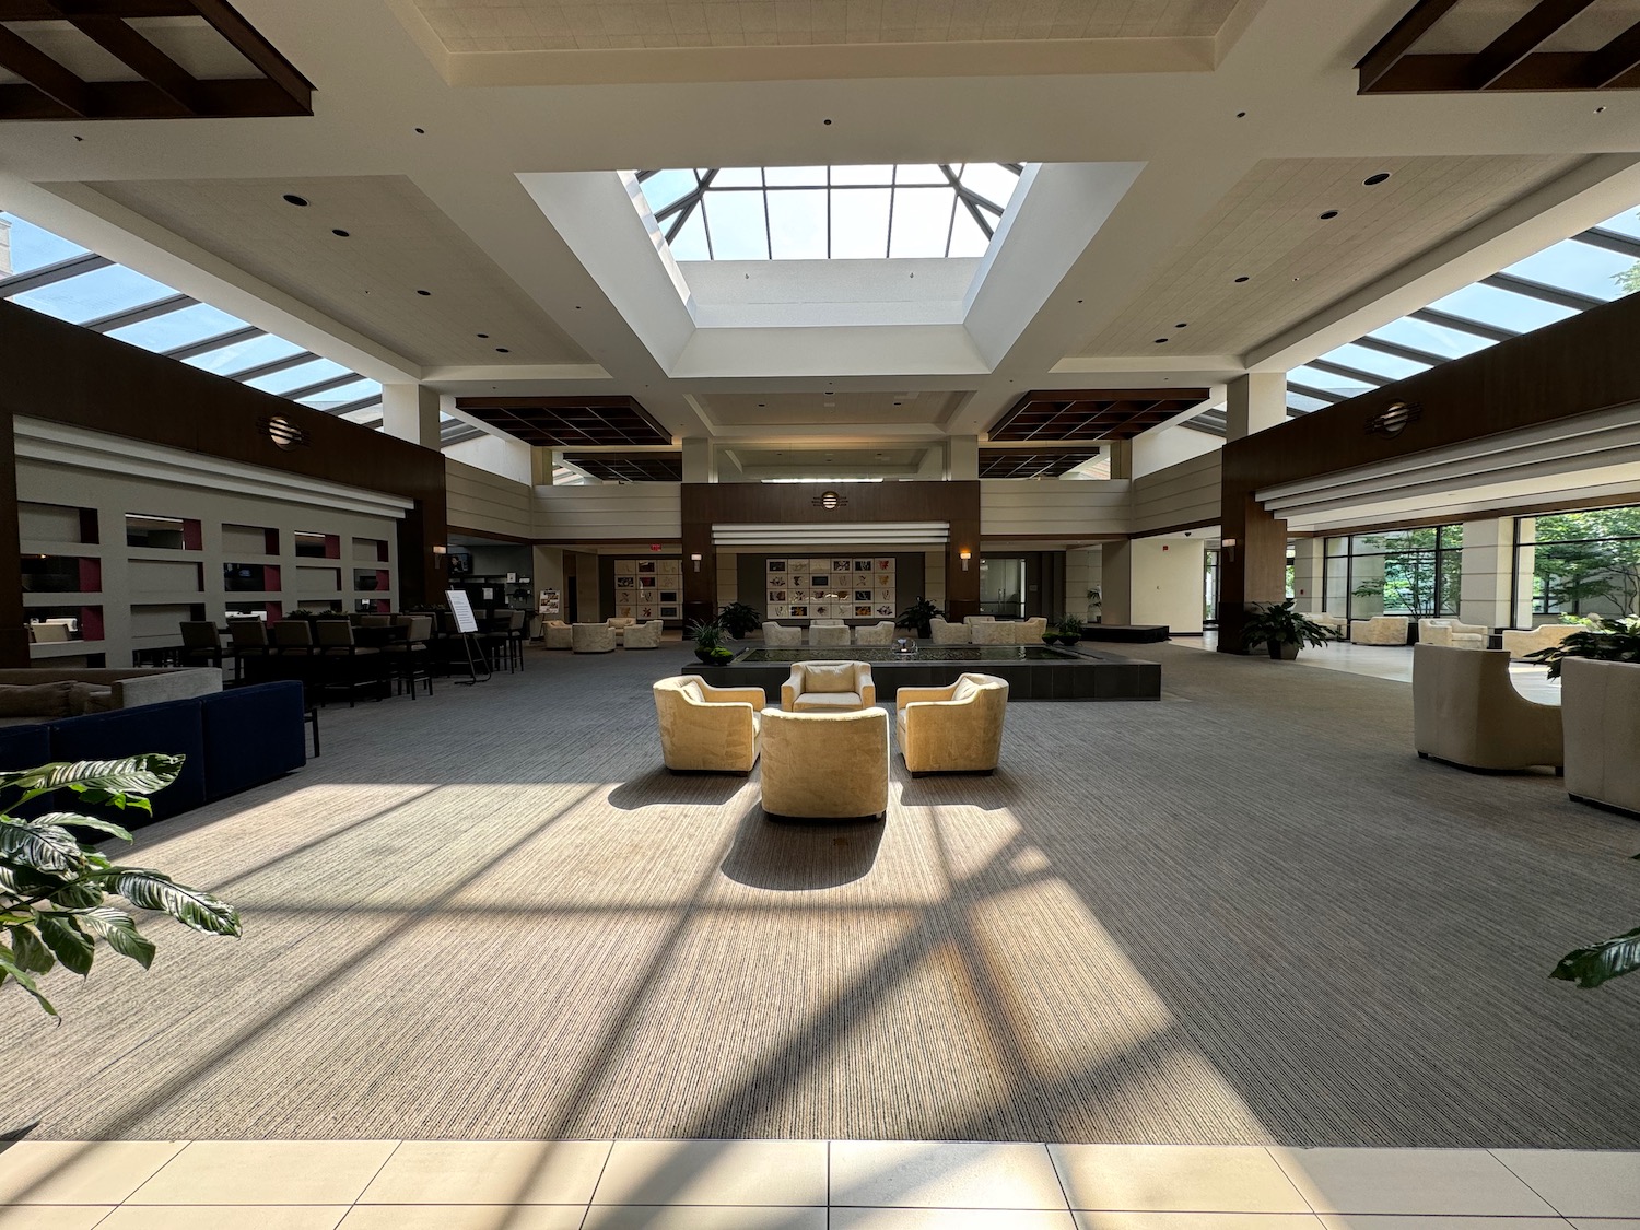
[[[1325,408],[1635,290],[1640,212],[1630,208],[1294,367],[1287,413]]]

